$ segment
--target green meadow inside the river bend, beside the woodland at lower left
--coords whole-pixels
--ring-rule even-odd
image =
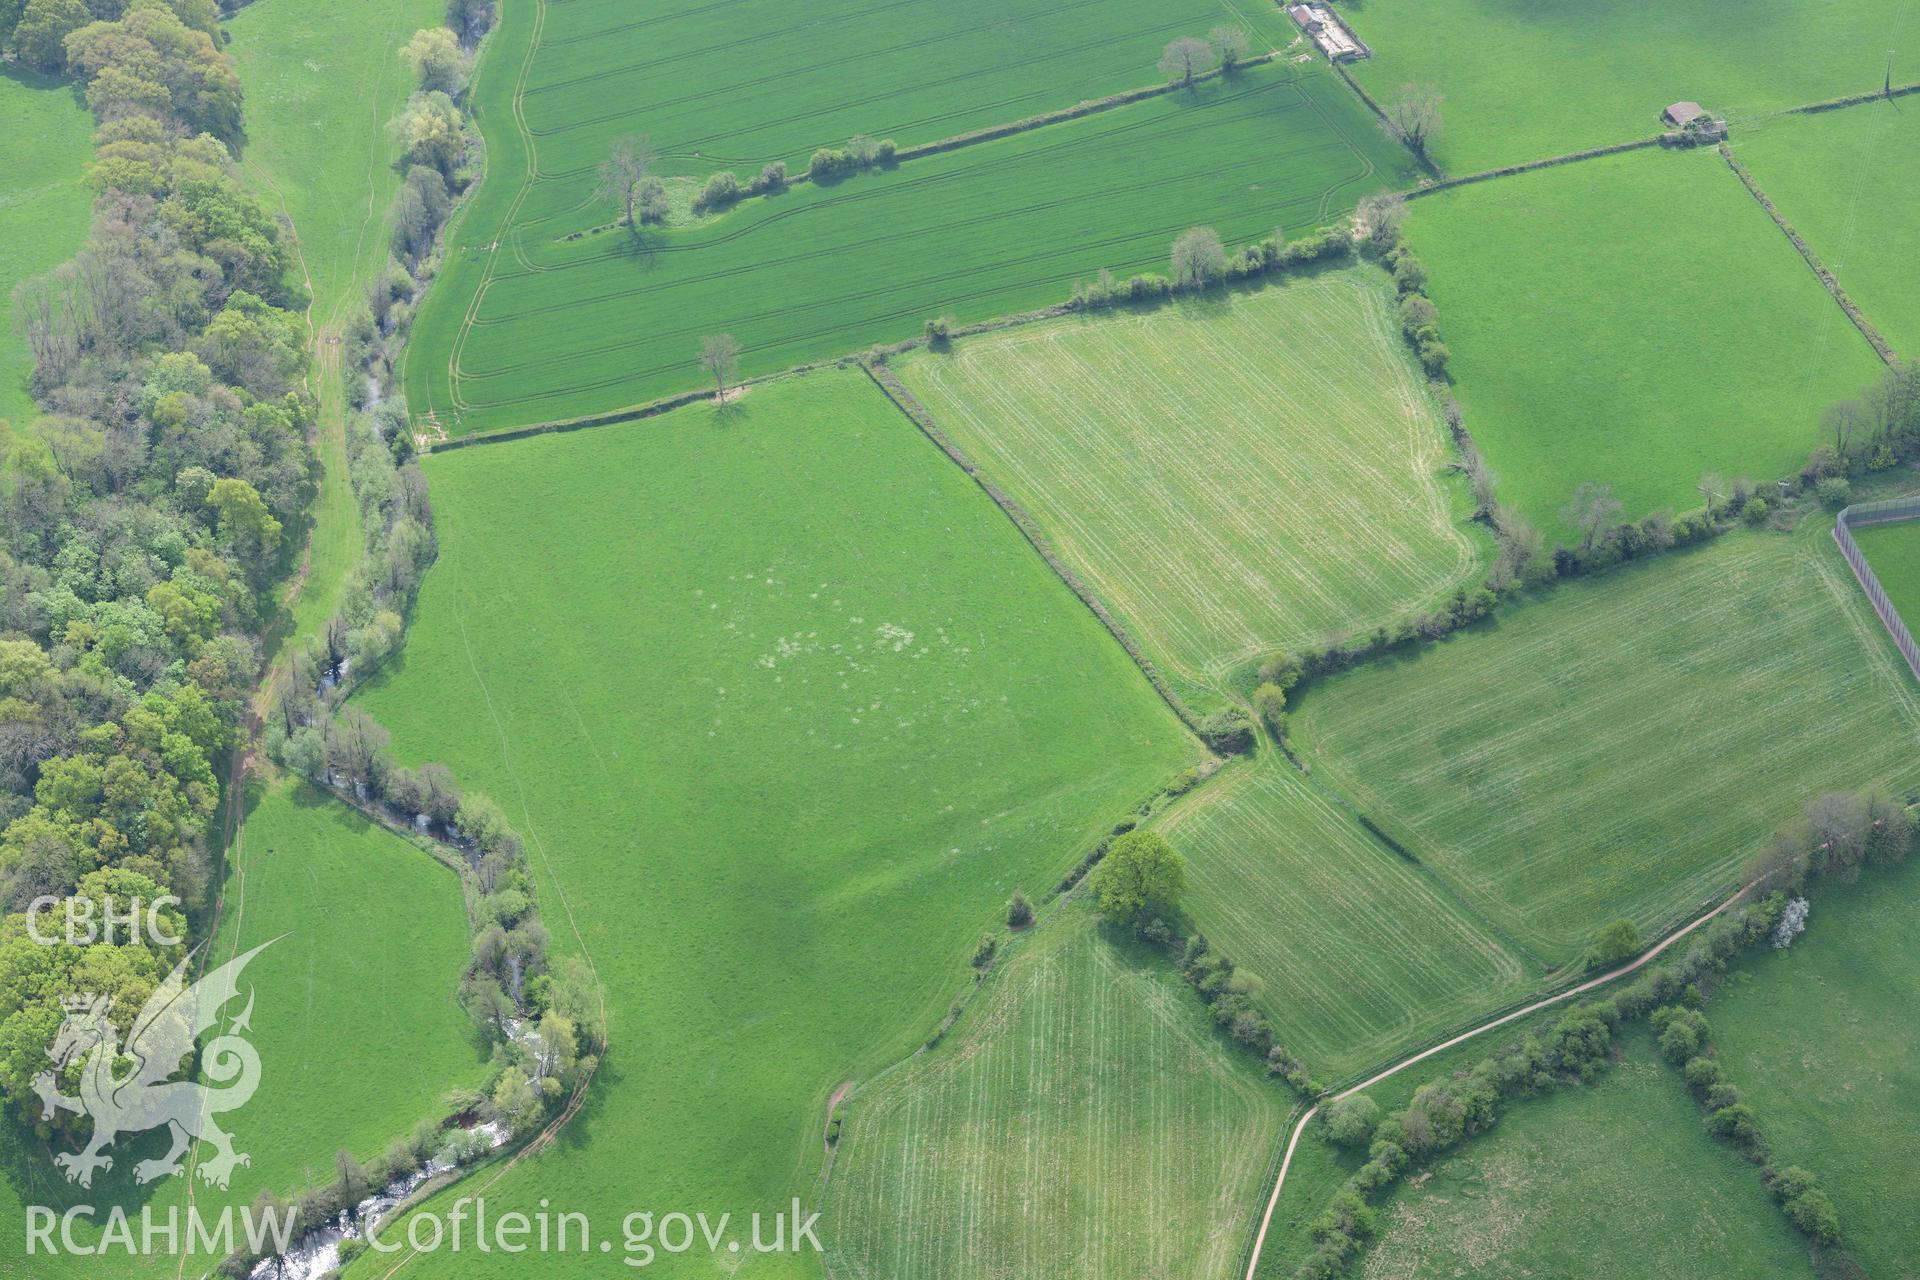
[[[453,871],[311,787],[286,779],[255,787],[244,839],[228,850],[209,965],[278,940],[242,981],[242,1002],[248,988],[255,996],[250,1040],[261,1059],[259,1090],[223,1119],[252,1163],[234,1171],[225,1192],[192,1184],[192,1203],[207,1215],[252,1205],[261,1192],[330,1182],[338,1151],[371,1159],[417,1123],[444,1119],[444,1098],[476,1088],[488,1061],[488,1046],[455,1000],[467,913]],[[121,1140],[113,1169],[83,1190],[6,1128],[0,1222],[8,1230],[17,1230],[27,1203],[90,1203],[96,1224],[111,1205],[138,1213],[152,1203],[161,1221],[169,1207],[184,1213],[184,1174],[132,1184],[134,1161],[163,1153],[165,1132]],[[84,1222],[77,1234],[88,1240]],[[213,1261],[196,1259],[202,1268]],[[173,1276],[180,1259],[165,1251],[111,1261],[38,1255],[21,1267],[8,1274]]]

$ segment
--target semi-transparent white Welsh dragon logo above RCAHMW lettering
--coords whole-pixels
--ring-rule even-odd
[[[83,1151],[69,1151],[54,1157],[69,1182],[81,1186],[94,1184],[96,1169],[111,1169],[113,1157],[104,1151],[121,1134],[140,1134],[165,1125],[173,1134],[171,1150],[159,1159],[144,1159],[134,1165],[136,1182],[152,1182],[182,1171],[180,1157],[198,1138],[213,1146],[213,1157],[200,1163],[200,1176],[211,1186],[225,1188],[238,1165],[253,1161],[242,1151],[234,1151],[232,1134],[213,1123],[215,1113],[232,1111],[246,1105],[253,1090],[259,1088],[259,1054],[246,1042],[253,1017],[253,990],[248,988],[246,1009],[232,1021],[227,1032],[207,1042],[200,1059],[200,1073],[215,1084],[227,1088],[207,1088],[196,1080],[169,1080],[200,1034],[213,1027],[221,1007],[238,996],[240,971],[265,948],[278,942],[261,942],[252,952],[238,956],[198,983],[186,983],[188,956],[159,990],[146,1002],[140,1015],[127,1031],[127,1046],[121,1048],[108,1011],[111,996],[88,996],[69,1000],[67,1021],[60,1025],[48,1057],[54,1071],[69,1061],[84,1057],[81,1067],[81,1096],[67,1098],[60,1092],[54,1071],[42,1071],[33,1079],[33,1088],[44,1105],[40,1119],[54,1119],[54,1109],[77,1111],[92,1119],[94,1134]],[[132,1059],[123,1075],[113,1067],[121,1059]]]

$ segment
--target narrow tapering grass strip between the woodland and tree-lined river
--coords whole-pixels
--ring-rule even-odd
[[[388,209],[399,188],[388,121],[413,90],[399,46],[442,17],[434,0],[271,0],[240,10],[230,25],[227,48],[248,90],[244,171],[261,201],[292,221],[313,294],[309,386],[321,397],[323,472],[294,635],[326,626],[361,555],[338,338],[388,263]]]

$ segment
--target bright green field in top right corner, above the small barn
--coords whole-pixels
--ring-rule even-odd
[[[1912,0],[1363,0],[1342,6],[1373,46],[1354,77],[1377,98],[1407,83],[1444,94],[1434,155],[1476,173],[1665,129],[1692,98],[1734,123],[1880,88]],[[1912,79],[1895,61],[1893,79]],[[1684,207],[1684,205],[1682,205]]]

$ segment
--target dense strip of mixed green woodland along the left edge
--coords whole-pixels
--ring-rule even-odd
[[[215,19],[0,0],[0,46],[98,121],[86,244],[13,299],[38,416],[0,424],[0,1094],[29,1123],[58,992],[111,992],[125,1029],[180,948],[40,946],[23,910],[207,906],[219,760],[313,489],[305,297],[234,177]]]

